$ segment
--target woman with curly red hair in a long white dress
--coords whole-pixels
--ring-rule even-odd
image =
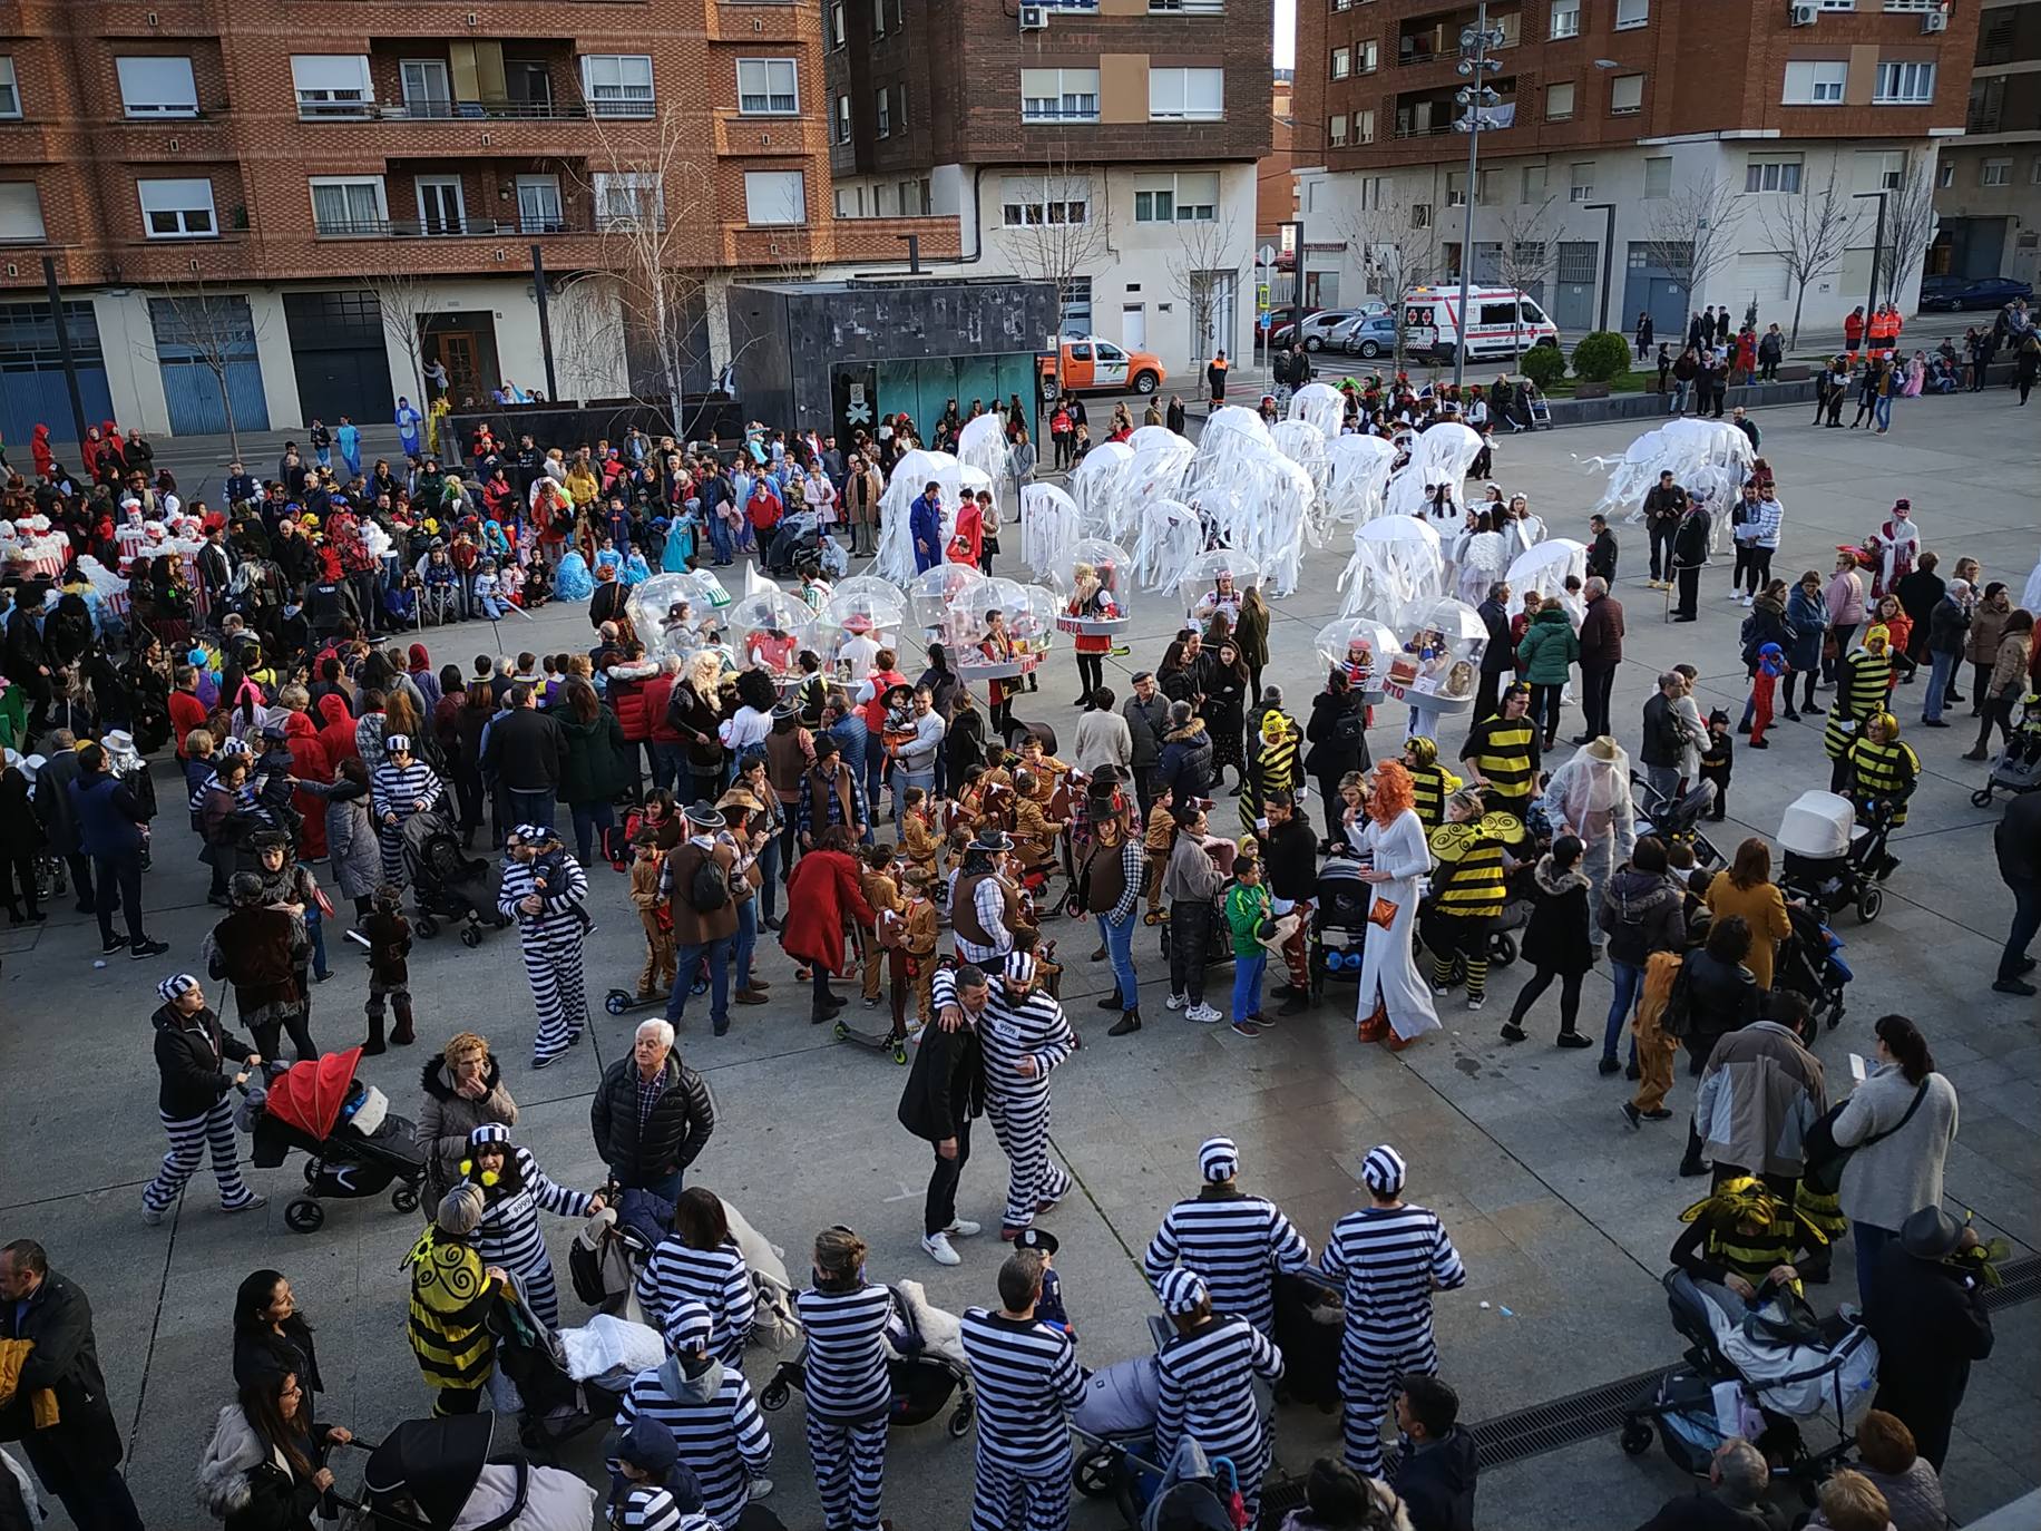
[[[1361,947],[1359,1035],[1361,1041],[1386,1041],[1394,1051],[1439,1027],[1410,951],[1418,882],[1431,872],[1425,821],[1412,804],[1410,774],[1386,759],[1367,778],[1365,817],[1347,810],[1347,839],[1367,857],[1361,882],[1374,886],[1378,908],[1394,908],[1388,927],[1370,925]]]

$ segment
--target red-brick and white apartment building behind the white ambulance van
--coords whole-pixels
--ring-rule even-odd
[[[1976,0],[1494,0],[1488,16],[1500,104],[1470,188],[1453,96],[1476,6],[1298,0],[1306,247],[1337,271],[1321,302],[1372,292],[1392,243],[1412,278],[1457,280],[1472,196],[1474,280],[1516,269],[1561,331],[1604,314],[1629,331],[1649,310],[1659,337],[1684,335],[1704,304],[1786,323],[1782,231],[1806,204],[1784,198],[1825,198],[1833,178],[1853,225],[1802,325],[1833,327],[1870,290],[1874,200],[1855,194],[1886,192],[1894,223],[1927,204],[1978,41]],[[1704,214],[1712,227],[1682,241]],[[1931,229],[1921,210],[1910,223],[1919,243],[1888,284],[1908,310]]]

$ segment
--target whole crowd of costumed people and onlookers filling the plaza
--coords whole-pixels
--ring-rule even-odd
[[[1349,390],[1349,408],[1384,427],[1463,416],[1461,400],[1402,388]],[[1492,429],[1480,390],[1465,410]],[[1065,421],[1059,410],[1051,425],[1059,459],[1063,437],[1076,439]],[[963,423],[945,410],[935,441]],[[1006,435],[1027,445],[1018,408]],[[1516,888],[1531,906],[1521,941],[1531,980],[1502,1027],[1506,1045],[1527,1041],[1557,980],[1557,1043],[1594,1047],[1578,1027],[1582,978],[1606,959],[1614,998],[1598,1066],[1637,1084],[1621,1106],[1631,1129],[1672,1121],[1674,1059],[1688,1053],[1696,1098],[1680,1174],[1708,1176],[1710,1188],[1682,1219],[1672,1264],[1763,1304],[1827,1280],[1835,1241],[1845,1231],[1853,1241],[1865,1323],[1886,1351],[1876,1417],[1888,1423],[1865,1470],[1825,1490],[1823,1523],[1853,1531],[1870,1525],[1874,1498],[1892,1519],[1902,1494],[1933,1500],[1968,1366],[1990,1349],[1978,1294],[2002,1253],[1941,1206],[1955,1090],[1923,1031],[1888,1015],[1876,1066],[1831,1100],[1810,1051],[1812,1006],[1776,982],[1792,929],[1770,845],[1747,839],[1710,874],[1694,866],[1692,835],[1639,833],[1639,819],[1663,817],[1698,784],[1714,786],[1721,819],[1737,741],[1768,747],[1780,704],[1784,719],[1827,719],[1835,790],[1888,823],[1904,823],[1921,776],[1894,719],[1900,686],[1921,686],[1921,725],[1937,729],[1970,684],[1978,751],[1994,729],[2008,749],[2041,741],[2031,696],[2041,643],[2006,584],[1974,559],[1955,559],[1945,582],[1906,500],[1843,549],[1833,574],[1774,580],[1784,510],[1759,459],[1731,514],[1745,719],[1702,717],[1694,665],[1659,676],[1633,735],[1643,800],[1616,739],[1631,729],[1610,717],[1625,614],[1606,523],[1578,592],[1514,592],[1502,580],[1480,592],[1488,645],[1465,737],[1437,737],[1437,714],[1412,708],[1396,755],[1380,761],[1353,674],[1331,670],[1308,708],[1267,680],[1272,612],[1231,578],[1190,604],[1125,698],[1080,651],[1086,686],[1067,757],[1055,727],[1014,719],[1025,690],[967,682],[941,643],[927,645],[916,680],[898,647],[872,641],[841,670],[802,655],[798,682],[780,688],[714,645],[682,657],[661,651],[663,635],[637,633],[623,592],[651,567],[700,561],[698,535],[712,561],[745,547],[769,561],[798,500],[825,529],[841,514],[853,547],[876,537],[884,472],[914,441],[904,421],[847,453],[767,431],[735,447],[633,431],[576,451],[539,451],[529,437],[502,451],[478,437],[463,453],[476,482],[429,455],[398,482],[382,461],[363,476],[359,443],[314,435],[312,461],[286,451],[271,482],[235,465],[220,512],[169,504],[176,490],[151,478],[139,433],[88,443],[86,484],[55,461],[37,463],[33,486],[16,476],[10,514],[49,516],[67,551],[55,580],[20,567],[6,580],[4,892],[10,919],[41,921],[41,886],[61,868],[78,912],[98,919],[104,955],[157,964],[151,1047],[167,1149],[141,1194],[143,1221],[163,1223],[208,1155],[222,1213],[263,1204],[243,1178],[237,1102],[273,1082],[286,1037],[300,1064],[339,1051],[314,996],[335,974],[329,945],[343,921],[367,949],[369,1055],[416,1045],[429,1019],[414,1013],[408,970],[420,919],[478,937],[512,931],[537,1072],[588,1033],[588,933],[623,894],[645,941],[629,1000],[663,1006],[663,1019],[637,1027],[590,1102],[600,1186],[553,1180],[518,1141],[512,1078],[486,1037],[461,1031],[422,1059],[427,1225],[406,1260],[410,1345],[435,1415],[486,1406],[504,1382],[490,1304],[514,1290],[539,1323],[561,1317],[541,1213],[584,1221],[625,1198],[663,1204],[635,1296],[665,1362],[635,1376],[618,1411],[610,1513],[620,1525],[729,1531],[771,1492],[771,1441],[743,1376],[761,1319],[727,1208],[696,1174],[716,1106],[678,1031],[696,996],[714,1037],[735,1023],[731,1006],[769,1006],[778,968],[763,943],[776,935],[792,982],[808,988],[812,1025],[851,1025],[857,1004],[886,1015],[886,1043],[918,1037],[898,1121],[933,1157],[920,1243],[935,1264],[963,1264],[957,1243],[982,1233],[957,1211],[972,1123],[986,1119],[1000,1143],[998,1235],[1012,1251],[996,1304],[988,1292],[961,1319],[978,1392],[974,1525],[1055,1527],[1069,1502],[1082,1302],[1057,1280],[1055,1235],[1039,1221],[1072,1190],[1049,1125],[1053,1076],[1084,1041],[1061,1000],[1072,955],[1057,951],[1053,921],[1096,925],[1090,959],[1112,974],[1098,1002],[1112,1017],[1106,1037],[1139,1045],[1125,1041],[1145,1023],[1135,939],[1153,929],[1163,1008],[1255,1039],[1327,1004],[1316,915],[1327,870],[1345,868],[1370,925],[1349,974],[1359,1037],[1400,1051],[1439,1029],[1455,988],[1484,1008],[1492,935]],[[763,500],[778,514],[755,514]],[[1649,584],[1678,584],[1678,616],[1698,619],[1708,512],[1667,474],[1641,514]],[[147,527],[180,518],[200,533],[196,590],[180,553],[151,555],[159,539]],[[143,537],[122,557],[116,527],[137,521]],[[984,531],[996,529],[994,510]],[[1496,490],[1463,531],[1535,539],[1543,523]],[[990,561],[984,543],[978,551]],[[90,580],[92,557],[129,563],[125,612]],[[804,561],[804,594],[827,594],[825,574]],[[500,621],[547,592],[588,600],[592,645],[508,655],[490,643],[471,663],[435,665],[414,641],[418,608],[406,614],[402,602],[410,590],[433,604],[435,586],[445,621]],[[1816,694],[1831,688],[1825,710]],[[1570,696],[1584,729],[1559,759]],[[165,770],[151,772],[151,755]],[[157,792],[169,782],[222,912],[192,972],[165,974],[180,964],[163,964],[167,947],[149,933],[145,872],[180,853],[159,833]],[[1237,812],[1223,810],[1227,796]],[[1998,827],[2017,908],[1992,986],[2019,996],[2035,994],[2037,806],[2041,794],[2017,798]],[[614,884],[606,861],[625,874]],[[1896,866],[1886,857],[1878,874]],[[1263,996],[1272,964],[1280,982]],[[1227,966],[1221,1008],[1212,970]],[[859,994],[833,980],[855,980]],[[227,990],[239,1033],[214,1004]],[[527,1027],[510,1031],[525,1051]],[[1155,1449],[1190,1439],[1225,1455],[1253,1517],[1272,1466],[1253,1388],[1298,1364],[1276,1343],[1276,1282],[1310,1272],[1345,1298],[1343,1451],[1312,1468],[1296,1527],[1472,1527],[1474,1447],[1439,1380],[1431,1321],[1433,1294],[1463,1286],[1467,1268],[1445,1221],[1406,1200],[1410,1166],[1374,1145],[1367,1204],[1325,1231],[1316,1257],[1274,1198],[1239,1184],[1241,1168],[1231,1139],[1204,1141],[1194,1194],[1163,1217],[1143,1260],[1174,1333],[1157,1355]],[[812,1278],[796,1282],[806,1445],[829,1531],[880,1525],[892,1302],[865,1264],[863,1239],[831,1227],[814,1239]],[[51,1390],[61,1411],[18,1433],[43,1486],[80,1527],[139,1525],[84,1294],[39,1245],[16,1241],[0,1251],[0,1345],[39,1345],[0,1409],[35,1409]],[[331,1449],[351,1437],[314,1423],[312,1327],[282,1272],[259,1270],[237,1294],[233,1376],[239,1394],[208,1447],[202,1498],[235,1531],[308,1527],[331,1502]],[[1761,1496],[1765,1451],[1727,1441],[1716,1464],[1708,1504],[1667,1507],[1674,1519],[1653,1525],[1708,1525],[1716,1498]],[[0,1504],[8,1486],[0,1476]],[[576,1513],[592,1515],[594,1498]]]

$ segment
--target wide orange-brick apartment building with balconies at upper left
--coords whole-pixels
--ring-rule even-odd
[[[220,337],[241,429],[386,423],[433,361],[545,388],[533,245],[557,394],[659,396],[614,276],[655,208],[702,386],[733,274],[957,251],[831,216],[820,39],[814,0],[0,0],[0,429],[69,435],[45,255],[94,421],[222,429]]]

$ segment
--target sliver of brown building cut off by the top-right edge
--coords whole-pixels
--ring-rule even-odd
[[[1982,0],[1970,112],[1935,188],[1929,271],[2041,288],[2041,0]]]

